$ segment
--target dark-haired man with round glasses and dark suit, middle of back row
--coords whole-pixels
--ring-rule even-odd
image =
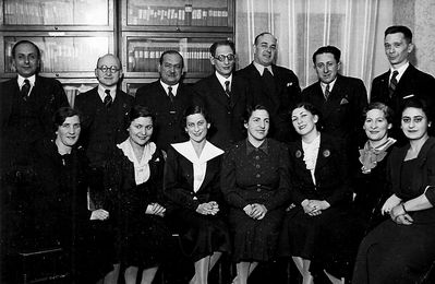
[[[212,118],[209,140],[226,150],[245,138],[243,115],[249,102],[247,82],[233,73],[235,47],[230,40],[210,46],[215,72],[198,81],[193,90]]]

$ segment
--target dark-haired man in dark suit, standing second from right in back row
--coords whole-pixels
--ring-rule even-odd
[[[314,52],[313,63],[318,81],[302,91],[302,100],[313,104],[321,111],[323,132],[340,138],[357,153],[367,91],[360,79],[338,73],[340,56],[341,51],[335,46],[323,46]]]

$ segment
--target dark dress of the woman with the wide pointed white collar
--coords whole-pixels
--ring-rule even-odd
[[[164,190],[169,202],[168,217],[173,229],[180,234],[182,250],[191,260],[197,261],[216,251],[230,251],[230,237],[223,221],[226,210],[219,184],[220,155],[223,152],[207,141],[202,155],[208,152],[208,147],[214,147],[213,151],[218,150],[220,154],[206,162],[204,180],[200,189],[194,192],[193,163],[174,149],[177,145],[181,145],[179,149],[188,149],[191,146],[189,144],[190,141],[172,144],[169,147]],[[203,215],[196,212],[201,203],[209,201],[219,204],[218,214]]]

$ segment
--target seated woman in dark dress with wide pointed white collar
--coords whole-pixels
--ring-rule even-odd
[[[184,126],[190,140],[169,147],[164,190],[168,217],[179,228],[184,253],[195,262],[190,283],[205,284],[222,252],[230,250],[219,184],[223,151],[206,140],[210,122],[202,107],[185,109]]]

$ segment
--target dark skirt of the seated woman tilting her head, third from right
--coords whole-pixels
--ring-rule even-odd
[[[329,208],[317,216],[293,208],[282,224],[279,256],[311,260],[313,273],[326,269],[335,276],[349,277],[362,234],[353,221],[343,208]]]

